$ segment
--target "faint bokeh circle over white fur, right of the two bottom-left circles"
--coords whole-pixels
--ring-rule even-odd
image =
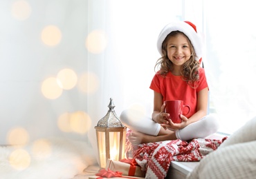
[[[51,143],[46,139],[38,139],[33,143],[32,152],[38,159],[43,159],[51,156]]]

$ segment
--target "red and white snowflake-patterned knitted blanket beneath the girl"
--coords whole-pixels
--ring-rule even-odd
[[[222,140],[197,138],[183,140],[165,140],[158,143],[144,143],[132,146],[133,157],[143,171],[145,178],[165,178],[171,161],[196,162],[211,151],[216,150]]]

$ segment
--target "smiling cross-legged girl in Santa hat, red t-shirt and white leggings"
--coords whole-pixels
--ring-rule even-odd
[[[167,24],[158,36],[158,52],[161,58],[156,62],[156,72],[150,89],[154,90],[154,112],[152,118],[143,117],[134,121],[138,112],[126,110],[120,120],[132,134],[132,144],[153,143],[163,140],[191,140],[205,138],[218,129],[217,118],[207,115],[208,83],[205,71],[200,66],[202,43],[196,26],[189,21]],[[164,101],[181,100],[190,106],[190,112],[181,115],[181,123],[167,120]],[[129,115],[133,114],[133,115]]]

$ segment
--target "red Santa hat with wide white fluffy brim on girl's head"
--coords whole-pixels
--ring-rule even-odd
[[[177,30],[179,30],[180,32],[183,32],[186,36],[188,36],[188,39],[190,39],[194,47],[194,52],[196,53],[196,60],[200,60],[203,55],[203,52],[202,52],[203,43],[201,41],[199,34],[197,34],[196,32],[196,25],[194,25],[190,21],[178,21],[178,22],[173,22],[165,25],[165,27],[163,28],[163,30],[161,30],[158,36],[158,40],[157,40],[158,52],[162,55],[163,41],[165,40],[168,34],[170,34],[172,31],[177,31]]]

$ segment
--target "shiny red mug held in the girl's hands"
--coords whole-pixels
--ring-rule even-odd
[[[183,114],[183,109],[188,107],[188,112]],[[187,115],[190,113],[190,106],[183,105],[183,101],[174,100],[174,101],[165,101],[165,112],[170,114],[167,119],[171,119],[173,123],[181,123],[180,115]]]

